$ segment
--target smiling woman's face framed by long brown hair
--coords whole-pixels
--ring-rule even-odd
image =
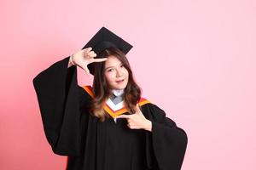
[[[105,62],[104,74],[111,89],[125,89],[129,80],[129,72],[115,56],[110,55]]]

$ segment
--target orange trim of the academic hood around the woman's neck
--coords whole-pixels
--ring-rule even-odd
[[[90,95],[90,97],[92,97],[93,99],[95,98],[95,95],[94,95],[94,93],[93,93],[93,91],[92,91],[92,88],[91,88],[90,86],[83,86],[82,88],[84,88],[84,90]],[[144,98],[141,98],[141,99],[137,102],[137,104],[138,104],[139,106],[142,106],[142,105],[145,105],[145,104],[148,104],[148,103],[150,103],[150,102],[148,101],[148,99],[144,99]],[[106,103],[103,105],[103,109],[104,109],[104,111],[107,111],[108,114],[109,114],[110,116],[112,116],[113,118],[114,118],[115,116],[122,115],[123,113],[125,113],[125,112],[128,111],[125,107],[123,107],[122,109],[119,109],[118,111],[113,111],[113,110],[108,106],[108,104],[106,104]]]

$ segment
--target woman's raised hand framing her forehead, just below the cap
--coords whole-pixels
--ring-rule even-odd
[[[92,48],[84,48],[79,50],[77,53],[73,54],[73,63],[82,68],[86,73],[90,74],[90,71],[87,67],[90,63],[93,62],[102,62],[106,61],[108,58],[95,59],[96,53],[91,50]]]

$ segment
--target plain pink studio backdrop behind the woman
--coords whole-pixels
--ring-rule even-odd
[[[134,45],[143,97],[189,135],[183,170],[256,169],[253,0],[2,0],[0,169],[64,169],[47,143],[32,78],[102,26]],[[79,84],[90,84],[79,70]]]

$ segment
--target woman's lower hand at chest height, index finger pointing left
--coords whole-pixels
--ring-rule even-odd
[[[136,105],[136,112],[132,115],[120,115],[114,118],[125,118],[127,120],[127,126],[131,129],[145,129],[152,131],[152,122],[146,119],[143,112],[140,110],[139,105]]]

